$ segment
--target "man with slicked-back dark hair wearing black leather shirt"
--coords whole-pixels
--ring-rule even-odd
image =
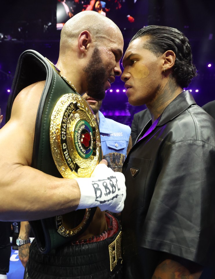
[[[196,76],[189,40],[146,26],[122,65],[129,103],[151,114],[122,168],[124,278],[212,279],[215,121],[184,91]]]

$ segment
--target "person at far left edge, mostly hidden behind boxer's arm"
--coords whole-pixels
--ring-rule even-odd
[[[0,107],[0,128],[3,115],[1,114]],[[10,267],[10,254],[11,254],[11,223],[0,221],[0,279],[7,279],[7,273]]]

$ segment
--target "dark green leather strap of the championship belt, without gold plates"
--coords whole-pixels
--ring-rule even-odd
[[[61,96],[68,93],[78,93],[59,75],[59,71],[55,69],[55,66],[51,65],[46,58],[36,51],[24,51],[19,57],[12,84],[12,93],[8,99],[6,121],[10,119],[12,104],[17,94],[28,85],[44,80],[46,80],[46,83],[37,111],[32,167],[46,174],[62,177],[55,165],[50,149],[50,117],[55,104]],[[96,208],[91,208],[89,219],[77,235],[81,234],[87,228],[95,210]],[[57,232],[56,217],[30,221],[29,223],[41,253],[47,253],[50,249],[61,246],[74,239],[74,236],[63,237]]]

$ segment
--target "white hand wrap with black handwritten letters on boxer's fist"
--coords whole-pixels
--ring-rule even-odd
[[[126,197],[125,177],[105,164],[98,164],[90,178],[75,178],[81,198],[77,209],[98,206],[102,211],[121,212]]]

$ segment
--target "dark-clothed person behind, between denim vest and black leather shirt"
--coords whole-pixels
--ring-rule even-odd
[[[145,125],[151,120],[151,115],[148,109],[141,110],[134,114],[132,123],[131,123],[131,139],[132,146],[135,144],[135,141],[140,135],[140,132],[145,127]]]

